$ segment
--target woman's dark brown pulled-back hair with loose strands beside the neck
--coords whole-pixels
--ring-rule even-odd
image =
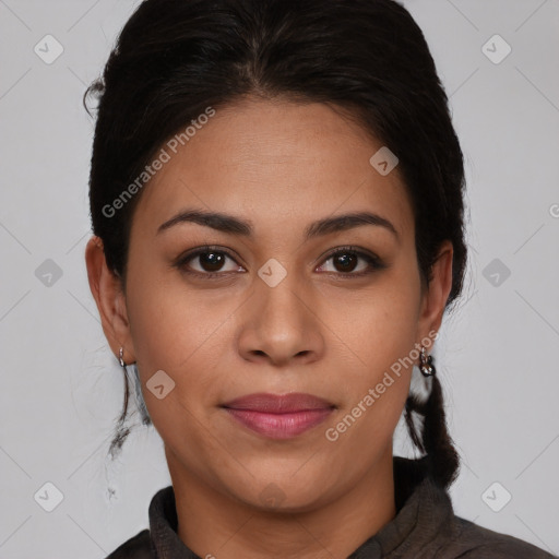
[[[328,103],[382,141],[400,160],[412,202],[423,281],[430,281],[438,249],[450,239],[447,308],[460,295],[466,265],[462,151],[425,37],[396,1],[146,0],[87,94],[98,97],[90,180],[93,231],[124,284],[141,191],[114,215],[107,215],[107,205],[206,107],[255,95]],[[128,433],[127,406],[128,379],[118,448]],[[423,417],[420,435],[414,413]],[[405,414],[412,440],[427,452],[430,474],[448,487],[459,457],[437,378],[428,401],[421,405],[411,395]]]

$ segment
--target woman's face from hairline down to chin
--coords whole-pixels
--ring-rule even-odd
[[[120,319],[104,326],[138,364],[171,476],[304,510],[391,453],[412,372],[395,364],[417,362],[440,325],[450,269],[421,290],[397,167],[369,163],[381,146],[326,105],[250,99],[167,148],[134,212]],[[321,403],[224,407],[254,393]]]

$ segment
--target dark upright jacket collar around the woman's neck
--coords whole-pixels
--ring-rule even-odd
[[[394,456],[396,516],[361,544],[347,559],[381,559],[395,551],[420,550],[450,530],[453,509],[444,488],[428,475],[428,456]],[[150,504],[151,547],[157,559],[201,559],[177,535],[173,486],[160,489]]]

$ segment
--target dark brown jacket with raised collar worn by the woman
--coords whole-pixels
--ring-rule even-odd
[[[347,559],[549,559],[526,542],[456,516],[448,492],[426,475],[426,462],[394,456],[396,516]],[[204,559],[177,536],[173,486],[150,504],[150,530],[107,559]],[[245,558],[239,558],[245,559]]]

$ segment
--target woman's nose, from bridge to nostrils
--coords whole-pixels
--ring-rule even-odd
[[[294,278],[295,280],[295,278]],[[260,278],[242,314],[238,350],[252,362],[309,364],[324,353],[317,301],[289,274],[275,287]]]

